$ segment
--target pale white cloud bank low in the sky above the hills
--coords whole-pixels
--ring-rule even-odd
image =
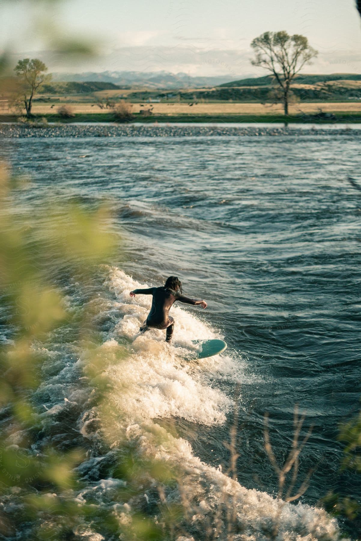
[[[133,39],[152,39],[143,32]],[[128,38],[127,38],[128,39]],[[14,62],[21,57],[38,57],[49,66],[49,71],[170,71],[185,72],[192,76],[226,75],[230,80],[266,75],[266,71],[253,68],[250,59],[253,51],[248,48],[222,48],[208,43],[199,47],[193,43],[182,42],[174,46],[137,45],[113,48],[89,61],[79,61],[69,65],[56,51],[24,51],[14,55]],[[219,44],[217,44],[219,45]],[[14,64],[15,65],[15,64]],[[323,50],[312,65],[303,69],[304,73],[361,73],[361,59],[355,51]]]

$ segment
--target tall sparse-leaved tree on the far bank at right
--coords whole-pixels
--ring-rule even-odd
[[[310,47],[305,36],[290,36],[284,30],[280,32],[264,32],[253,39],[251,47],[256,58],[252,64],[270,71],[279,85],[280,100],[284,105],[284,113],[288,115],[290,101],[290,85],[293,78],[304,67],[310,64],[318,52]]]

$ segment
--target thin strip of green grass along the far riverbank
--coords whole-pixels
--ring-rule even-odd
[[[195,115],[195,114],[180,114],[180,115],[152,115],[144,118],[136,113],[133,115],[133,120],[126,123],[142,122],[143,124],[152,124],[154,122],[159,123],[172,123],[172,122],[186,122],[186,123],[219,123],[232,122],[288,122],[288,123],[312,123],[312,124],[334,124],[336,122],[349,122],[349,123],[361,123],[361,113],[335,113],[336,120],[333,118],[316,118],[307,115],[306,117],[296,115]],[[72,122],[113,122],[113,116],[111,113],[93,113],[93,114],[76,114],[73,118],[62,119],[56,114],[46,114],[34,116],[33,121],[41,121],[42,118],[46,118],[48,122],[61,122],[62,124],[69,124]],[[0,115],[0,122],[16,122],[17,117],[15,115]]]

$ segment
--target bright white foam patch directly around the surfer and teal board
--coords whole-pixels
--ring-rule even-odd
[[[196,348],[192,340],[218,335],[195,315],[178,306],[172,307],[176,321],[172,346],[166,344],[164,331],[151,329],[139,335],[139,325],[148,314],[151,295],[137,295],[132,299],[129,292],[144,285],[118,268],[110,269],[108,285],[123,301],[123,304],[117,302],[117,308],[124,315],[113,336],[132,340],[129,355],[121,365],[111,362],[111,357],[116,358],[117,342],[110,339],[102,346],[108,357],[106,372],[115,388],[113,398],[117,410],[125,415],[124,421],[141,423],[156,417],[173,416],[204,425],[224,423],[232,400],[212,388],[209,379],[210,374],[217,377],[218,372],[235,373],[230,358],[218,355],[212,361],[206,359],[202,365],[183,360],[185,348]]]

